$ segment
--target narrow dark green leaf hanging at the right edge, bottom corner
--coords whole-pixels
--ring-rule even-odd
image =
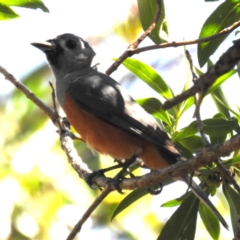
[[[230,212],[231,212],[231,221],[232,221],[233,232],[235,233],[240,228],[240,223],[239,223],[240,196],[225,181],[223,182],[223,193],[228,201],[228,205],[229,205]]]

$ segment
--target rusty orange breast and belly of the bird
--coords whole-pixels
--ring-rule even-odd
[[[87,145],[97,152],[115,159],[129,159],[133,155],[138,155],[151,169],[167,166],[152,143],[87,113],[69,96],[65,98],[64,111],[71,125]]]

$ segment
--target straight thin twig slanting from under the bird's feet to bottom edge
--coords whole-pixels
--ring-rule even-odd
[[[111,189],[110,186],[106,186],[106,188],[101,192],[101,194],[94,200],[94,202],[89,206],[89,208],[85,211],[81,219],[78,221],[78,223],[74,226],[71,233],[67,237],[66,240],[72,240],[74,237],[78,234],[78,232],[81,230],[82,225],[86,222],[86,220],[91,216],[93,211],[100,205],[100,203],[108,196],[109,193],[111,193],[113,189]]]

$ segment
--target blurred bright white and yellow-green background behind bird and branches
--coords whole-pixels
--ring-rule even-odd
[[[50,13],[15,7],[20,18],[0,21],[0,65],[52,106],[48,81],[54,82],[54,78],[44,54],[32,47],[31,42],[44,42],[63,33],[81,36],[97,53],[93,64],[100,63],[98,69],[105,72],[113,63],[112,59],[120,56],[142,29],[136,0],[43,2]],[[169,40],[197,39],[204,20],[221,2],[165,1]],[[231,34],[228,39],[232,41],[234,37]],[[211,59],[213,62],[232,45],[231,41],[221,45]],[[141,46],[152,44],[147,39]],[[187,49],[197,65],[197,46]],[[175,93],[181,92],[186,79],[191,77],[183,47],[149,51],[134,58],[157,69]],[[124,67],[112,77],[136,99],[158,97]],[[240,87],[238,81],[233,78],[224,85],[230,93],[228,100],[235,103]],[[231,87],[233,84],[234,88]],[[209,111],[202,113],[203,118],[212,117],[214,104],[205,102]],[[192,121],[192,114],[190,110],[184,116],[179,128]],[[112,159],[91,152],[83,143],[76,142],[76,148],[93,170],[113,163]],[[89,188],[70,167],[61,150],[56,128],[44,113],[3,76],[0,76],[0,149],[0,240],[66,239],[99,191]],[[84,224],[81,239],[156,239],[164,222],[175,211],[175,208],[164,209],[160,205],[180,197],[184,191],[184,184],[174,183],[164,188],[159,196],[140,199],[111,221],[111,214],[125,196],[112,193]],[[217,199],[213,201],[224,214],[224,202],[219,205]],[[229,234],[222,230],[220,239],[229,239],[232,236]],[[199,221],[196,239],[208,237]]]

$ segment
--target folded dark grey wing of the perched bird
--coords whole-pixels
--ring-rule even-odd
[[[179,153],[157,121],[138,105],[127,91],[111,77],[97,71],[78,76],[67,93],[86,112],[147,140],[177,162]]]

